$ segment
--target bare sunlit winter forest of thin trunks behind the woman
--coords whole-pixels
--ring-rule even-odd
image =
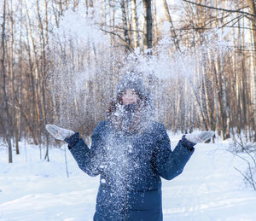
[[[256,1],[3,0],[0,137],[19,154],[54,123],[88,136],[118,79],[143,74],[172,132],[256,142]]]

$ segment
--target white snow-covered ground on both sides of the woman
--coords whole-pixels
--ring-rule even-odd
[[[172,148],[180,137],[170,135]],[[256,220],[256,193],[234,169],[246,164],[226,151],[228,146],[198,144],[183,174],[163,180],[165,221]],[[81,172],[68,150],[67,177],[64,148],[51,148],[46,162],[38,147],[20,142],[20,155],[8,164],[0,146],[1,221],[92,220],[99,178]]]

